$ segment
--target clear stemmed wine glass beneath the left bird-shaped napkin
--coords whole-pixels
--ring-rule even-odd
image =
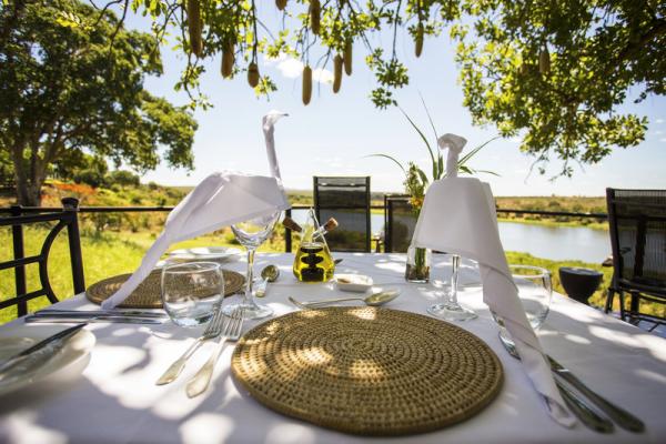
[[[259,245],[264,243],[273,232],[275,223],[280,219],[281,211],[250,219],[231,225],[231,230],[241,245],[248,250],[248,274],[245,283],[245,293],[240,303],[224,306],[224,314],[231,315],[238,306],[242,306],[244,319],[260,319],[273,314],[273,310],[266,305],[259,305],[253,299],[254,281],[254,253]]]

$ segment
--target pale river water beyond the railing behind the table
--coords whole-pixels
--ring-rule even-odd
[[[294,210],[293,219],[305,220],[304,210]],[[384,226],[384,214],[372,214],[373,233]],[[604,230],[585,226],[545,226],[518,222],[500,222],[500,239],[506,251],[529,253],[555,261],[579,260],[601,263],[610,254],[610,238]]]

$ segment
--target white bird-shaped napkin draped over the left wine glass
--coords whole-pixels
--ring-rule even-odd
[[[172,243],[290,206],[280,180],[273,139],[273,125],[283,115],[286,114],[271,111],[262,120],[272,176],[215,172],[205,178],[171,211],[164,230],[145,253],[141,266],[102,303],[102,309],[113,309],[122,303]]]

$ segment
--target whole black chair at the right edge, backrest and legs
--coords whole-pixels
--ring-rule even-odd
[[[666,304],[666,190],[606,189],[613,249],[613,281],[606,312],[619,295],[624,321],[664,324],[666,316],[640,311],[640,302]],[[629,309],[624,294],[630,296]]]

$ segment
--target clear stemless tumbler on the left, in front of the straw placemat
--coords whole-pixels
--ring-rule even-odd
[[[224,297],[224,276],[215,262],[188,262],[162,269],[164,310],[176,325],[208,322]]]

